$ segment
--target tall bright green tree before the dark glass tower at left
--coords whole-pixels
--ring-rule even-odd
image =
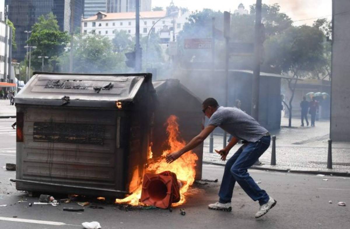
[[[59,30],[56,16],[49,13],[46,16],[40,16],[38,22],[32,26],[31,36],[28,44],[36,46],[37,48],[31,52],[31,65],[33,69],[41,70],[42,59],[38,56],[48,56],[49,59],[56,59],[60,56],[69,42],[69,35],[67,32]],[[49,63],[54,63],[50,62]],[[45,70],[56,70],[56,66],[49,66],[45,64]]]

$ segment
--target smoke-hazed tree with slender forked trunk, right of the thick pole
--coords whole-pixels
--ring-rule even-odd
[[[323,33],[315,26],[290,27],[280,35],[269,38],[265,49],[266,64],[293,77],[287,79],[288,88],[292,92],[289,105],[283,100],[289,112],[288,126],[291,127],[292,101],[297,79],[307,76],[323,61]]]

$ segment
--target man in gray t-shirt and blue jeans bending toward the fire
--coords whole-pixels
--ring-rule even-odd
[[[247,170],[269,147],[271,140],[269,132],[240,109],[219,107],[214,98],[204,100],[202,108],[205,116],[209,118],[208,126],[181,150],[167,155],[167,162],[172,163],[182,154],[201,144],[216,127],[221,127],[233,136],[224,149],[215,150],[221,155],[223,161],[226,160],[229,151],[239,139],[243,140],[244,144],[226,162],[219,191],[219,201],[215,204],[209,204],[208,207],[209,209],[231,211],[231,198],[237,181],[248,196],[254,201],[259,201],[260,208],[255,214],[255,218],[265,215],[269,209],[275,206],[276,200],[269,197],[265,190],[259,188]]]

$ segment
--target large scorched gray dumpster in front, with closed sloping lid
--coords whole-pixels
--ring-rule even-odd
[[[15,97],[17,190],[124,198],[141,184],[152,74],[34,72]]]

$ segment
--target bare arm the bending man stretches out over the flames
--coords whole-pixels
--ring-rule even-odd
[[[170,153],[167,156],[167,162],[168,163],[172,163],[173,161],[175,161],[176,159],[180,158],[182,154],[193,150],[195,147],[197,147],[199,144],[201,144],[205,138],[208,137],[208,135],[216,128],[216,126],[214,125],[208,125],[206,128],[204,128],[204,130],[202,130],[199,135],[197,135],[196,137],[194,137],[192,140],[190,140],[190,142],[183,147],[181,150],[174,152],[174,153]]]

